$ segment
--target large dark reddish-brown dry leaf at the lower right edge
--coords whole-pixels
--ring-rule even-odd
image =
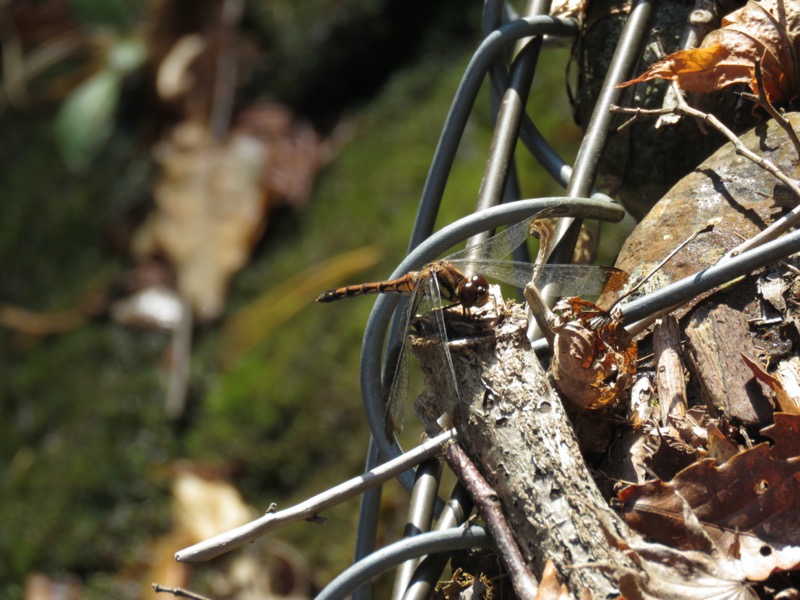
[[[657,480],[629,486],[619,494],[626,522],[661,543],[680,549],[707,549],[687,522],[727,559],[741,562],[747,579],[761,581],[773,572],[800,566],[800,418],[775,414],[763,433],[775,445],[759,444],[723,465],[698,461],[669,483]],[[698,541],[700,540],[700,541]]]

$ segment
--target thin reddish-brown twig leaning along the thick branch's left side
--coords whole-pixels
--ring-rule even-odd
[[[508,527],[497,494],[480,474],[475,463],[467,456],[464,449],[453,441],[444,446],[447,464],[453,469],[470,496],[475,501],[475,508],[486,522],[486,528],[494,539],[497,552],[505,563],[514,591],[518,598],[535,598],[539,590],[539,582],[525,564],[519,546]]]

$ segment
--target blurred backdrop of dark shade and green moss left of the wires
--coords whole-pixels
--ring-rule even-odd
[[[164,542],[175,528],[177,473],[224,475],[263,511],[359,472],[369,435],[358,359],[372,301],[322,306],[314,298],[331,285],[384,277],[402,259],[447,110],[481,40],[480,3],[244,5],[237,35],[247,68],[234,113],[259,100],[283,103],[314,124],[330,160],[307,204],[269,214],[224,314],[196,327],[187,407],[170,419],[171,334],[122,325],[97,301],[133,269],[120,240],[152,205],[155,124],[163,127],[165,109],[148,92],[149,32],[169,14],[165,7],[172,19],[200,11],[142,0],[12,1],[0,9],[6,59],[39,56],[67,33],[92,40],[91,51],[30,73],[22,97],[11,93],[22,89],[13,81],[19,71],[4,63],[0,597],[9,600],[25,597],[26,585],[32,597],[34,573],[71,586],[76,597],[152,597],[148,577],[180,547]],[[569,50],[545,52],[528,108],[569,160],[580,139],[565,94]],[[471,212],[491,125],[484,90],[440,226]],[[559,193],[524,150],[518,155],[526,197]],[[373,266],[345,265],[329,281],[311,282],[313,293],[298,288],[328,259],[363,248]],[[23,331],[15,310],[81,316],[64,331]],[[387,486],[383,541],[399,535],[405,499],[397,484]],[[322,527],[296,524],[270,540],[290,544],[312,585],[324,585],[352,556],[356,510],[350,502],[326,513]],[[212,574],[228,572],[231,560],[182,576],[198,592],[228,597]],[[280,591],[280,582],[271,585]]]

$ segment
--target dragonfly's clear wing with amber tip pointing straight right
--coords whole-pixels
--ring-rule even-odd
[[[452,261],[451,261],[452,262]],[[542,265],[509,260],[454,262],[459,269],[524,288],[533,280],[537,288],[548,287],[556,296],[599,296],[625,287],[628,274],[614,267],[598,265]]]

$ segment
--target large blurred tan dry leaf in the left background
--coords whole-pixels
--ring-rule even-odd
[[[264,226],[267,150],[241,132],[217,143],[204,126],[184,122],[160,146],[158,159],[157,210],[137,232],[134,254],[163,252],[198,318],[214,319]]]

